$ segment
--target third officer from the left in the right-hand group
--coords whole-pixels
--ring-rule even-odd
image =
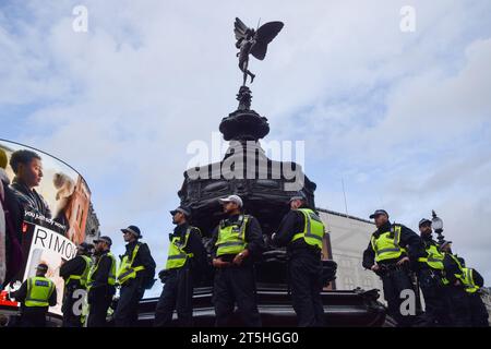
[[[465,272],[460,260],[452,252],[452,241],[442,243],[443,266],[448,286],[445,287],[445,300],[448,309],[450,326],[470,326],[470,304],[465,289]]]

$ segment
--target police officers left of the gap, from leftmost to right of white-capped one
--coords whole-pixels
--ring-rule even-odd
[[[155,327],[171,326],[173,311],[179,326],[193,325],[193,287],[206,273],[208,252],[214,268],[216,326],[240,324],[235,318],[236,305],[242,325],[262,325],[254,278],[254,262],[265,250],[261,225],[255,217],[243,213],[240,196],[230,195],[219,201],[226,218],[213,230],[211,251],[205,249],[200,229],[189,224],[191,213],[187,207],[170,212],[176,228],[169,234],[166,267],[158,274],[164,289],[155,309]],[[294,196],[289,205],[291,210],[273,234],[272,242],[286,246],[290,255],[290,290],[299,325],[322,326],[324,225],[315,212],[307,207],[303,196]],[[108,318],[112,318],[117,327],[136,324],[139,302],[154,285],[156,265],[148,245],[140,241],[142,234],[136,226],[121,231],[127,245],[119,267],[110,251],[112,241],[106,236],[94,240],[94,245],[82,243],[77,255],[60,267],[64,279],[63,326],[104,327],[109,325]],[[56,287],[46,277],[47,269],[46,264],[39,264],[36,277],[28,278],[14,293],[22,303],[21,326],[45,326],[48,308],[56,304]],[[119,299],[115,302],[117,288]],[[85,296],[83,301],[81,294]]]

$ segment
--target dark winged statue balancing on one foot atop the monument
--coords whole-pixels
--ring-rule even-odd
[[[249,70],[249,55],[254,56],[262,61],[266,57],[267,45],[278,35],[284,24],[283,22],[268,22],[261,25],[256,31],[248,27],[236,17],[233,23],[233,33],[236,34],[236,47],[239,49],[237,57],[239,57],[239,68],[243,72],[243,86],[246,86],[248,76],[251,77],[251,83],[255,75]]]

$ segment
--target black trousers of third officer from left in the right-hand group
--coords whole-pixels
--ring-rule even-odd
[[[470,326],[470,304],[469,297],[460,286],[447,286],[445,290],[445,301],[448,310],[450,326]]]

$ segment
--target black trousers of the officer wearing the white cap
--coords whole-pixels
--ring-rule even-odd
[[[216,268],[213,302],[216,315],[215,326],[230,325],[237,303],[243,325],[260,327],[261,315],[255,298],[254,267],[252,265],[233,265]]]

